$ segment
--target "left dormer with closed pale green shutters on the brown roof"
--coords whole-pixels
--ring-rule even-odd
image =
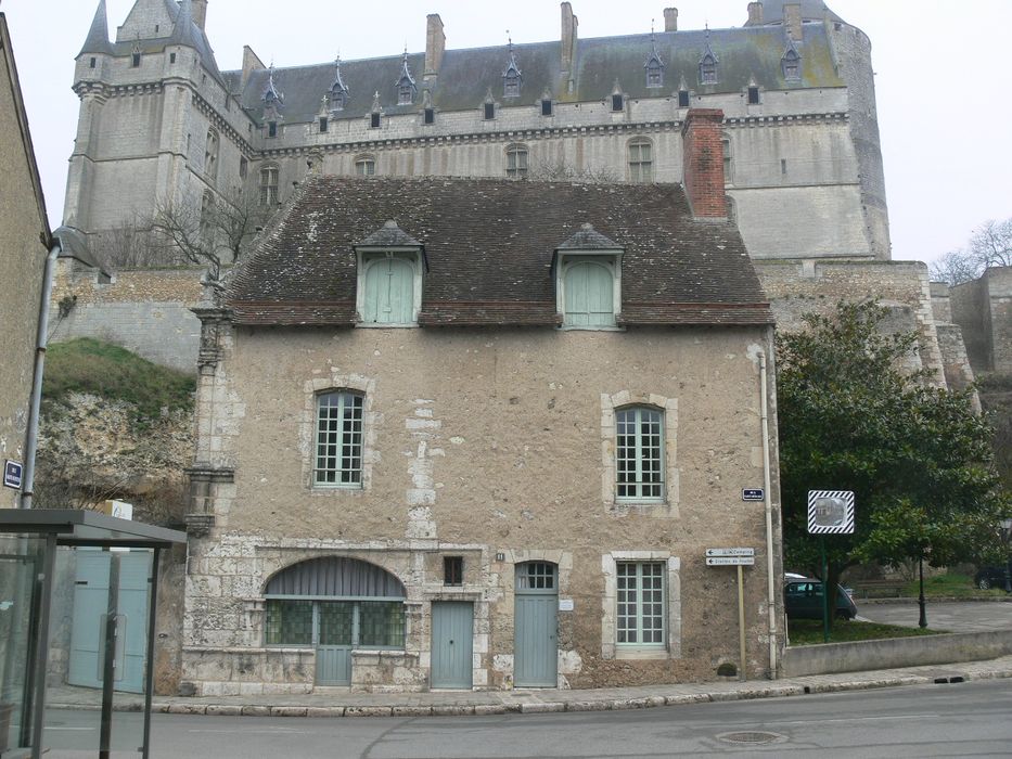
[[[359,325],[417,325],[422,303],[424,246],[390,220],[356,245],[355,253]]]

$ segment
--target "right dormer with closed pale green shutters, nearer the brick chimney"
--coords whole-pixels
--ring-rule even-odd
[[[590,224],[555,248],[555,307],[563,329],[616,326],[622,311],[623,252]]]

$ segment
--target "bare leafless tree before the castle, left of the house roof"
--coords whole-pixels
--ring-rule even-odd
[[[184,196],[163,200],[155,206],[151,229],[190,263],[206,266],[210,282],[221,280],[222,263],[235,262],[264,227],[272,209],[252,194],[235,191],[215,197]]]

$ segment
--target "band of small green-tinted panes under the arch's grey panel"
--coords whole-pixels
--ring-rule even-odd
[[[400,601],[296,601],[268,599],[267,645],[405,647]]]

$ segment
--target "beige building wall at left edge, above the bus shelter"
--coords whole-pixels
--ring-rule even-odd
[[[0,13],[0,463],[27,464],[28,419],[46,260],[52,239],[7,17]],[[21,504],[0,487],[0,509]]]

